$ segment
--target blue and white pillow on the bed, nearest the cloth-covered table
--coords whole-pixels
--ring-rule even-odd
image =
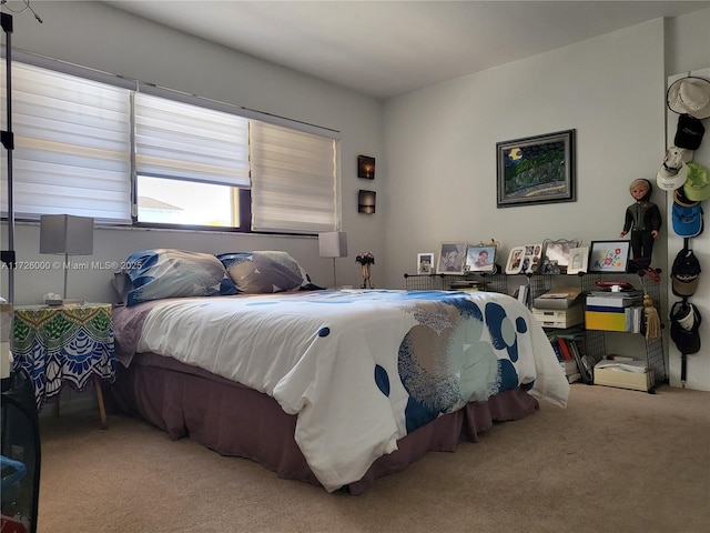
[[[210,253],[156,249],[133,253],[126,259],[133,288],[126,305],[178,296],[236,294],[224,265]]]

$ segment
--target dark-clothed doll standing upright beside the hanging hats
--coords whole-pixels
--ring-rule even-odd
[[[653,242],[661,229],[661,212],[658,205],[649,201],[652,190],[649,180],[640,178],[631,182],[629,192],[636,203],[626,209],[623,230],[619,233],[619,237],[625,237],[631,232],[631,252],[633,262],[639,268],[651,263]]]

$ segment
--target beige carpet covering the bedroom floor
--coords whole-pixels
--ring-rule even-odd
[[[280,480],[247,460],[120,415],[43,419],[40,533],[706,532],[710,393],[572,385],[429,453],[362,496]]]

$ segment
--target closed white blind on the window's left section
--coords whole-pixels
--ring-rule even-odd
[[[13,62],[16,214],[130,222],[130,124],[126,89]]]

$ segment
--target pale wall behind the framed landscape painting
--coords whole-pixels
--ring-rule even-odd
[[[545,239],[618,239],[629,183],[658,170],[665,86],[658,19],[387,101],[388,284],[443,240],[495,238],[507,257]],[[577,201],[496,209],[496,142],[567,129]]]

